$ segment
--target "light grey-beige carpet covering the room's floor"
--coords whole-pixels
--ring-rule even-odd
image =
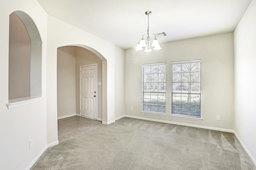
[[[50,147],[31,170],[256,170],[233,133],[124,117]]]

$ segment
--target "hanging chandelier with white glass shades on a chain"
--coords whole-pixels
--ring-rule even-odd
[[[149,16],[152,12],[146,11],[145,14]],[[156,39],[156,35],[151,35],[151,38],[149,37],[149,17],[148,17],[148,34],[147,36],[144,34],[142,35],[142,38],[139,39],[139,42],[137,44],[136,50],[143,50],[143,47],[145,47],[145,52],[152,51],[150,47],[154,47],[154,50],[160,50],[160,44],[158,43]]]

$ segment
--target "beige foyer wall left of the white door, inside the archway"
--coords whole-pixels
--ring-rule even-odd
[[[76,47],[59,47],[57,51],[58,118],[76,114]]]

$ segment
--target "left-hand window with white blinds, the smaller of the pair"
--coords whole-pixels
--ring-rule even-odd
[[[165,63],[142,65],[142,112],[165,114]]]

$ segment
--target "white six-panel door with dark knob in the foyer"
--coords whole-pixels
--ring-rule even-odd
[[[81,66],[80,70],[80,112],[81,116],[97,118],[96,78],[97,66]]]

